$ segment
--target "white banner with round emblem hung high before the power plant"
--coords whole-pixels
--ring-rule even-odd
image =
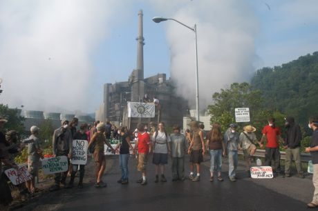
[[[142,118],[155,117],[155,104],[153,103],[128,102],[127,108],[128,108],[128,117],[142,117]]]

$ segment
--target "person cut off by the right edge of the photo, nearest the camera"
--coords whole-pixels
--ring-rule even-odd
[[[310,139],[310,147],[305,149],[305,152],[310,152],[313,164],[313,176],[312,183],[315,187],[314,197],[312,201],[307,204],[309,208],[318,207],[318,117],[310,117],[308,127],[313,130],[312,137]]]

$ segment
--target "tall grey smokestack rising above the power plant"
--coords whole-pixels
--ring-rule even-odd
[[[142,29],[142,10],[138,12],[137,66],[129,81],[131,85],[131,101],[139,101],[144,97],[144,37]]]

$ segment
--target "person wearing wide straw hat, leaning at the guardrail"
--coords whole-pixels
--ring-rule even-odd
[[[257,141],[256,134],[254,133],[256,128],[252,125],[246,125],[243,130],[239,137],[239,148],[243,150],[247,174],[250,176],[250,167],[253,155],[256,152],[256,145],[254,143],[259,143],[259,141]]]

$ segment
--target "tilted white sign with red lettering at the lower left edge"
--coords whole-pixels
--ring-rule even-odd
[[[4,171],[13,185],[19,185],[32,179],[31,174],[28,172],[28,164],[24,163],[18,165],[18,168],[9,168]]]

